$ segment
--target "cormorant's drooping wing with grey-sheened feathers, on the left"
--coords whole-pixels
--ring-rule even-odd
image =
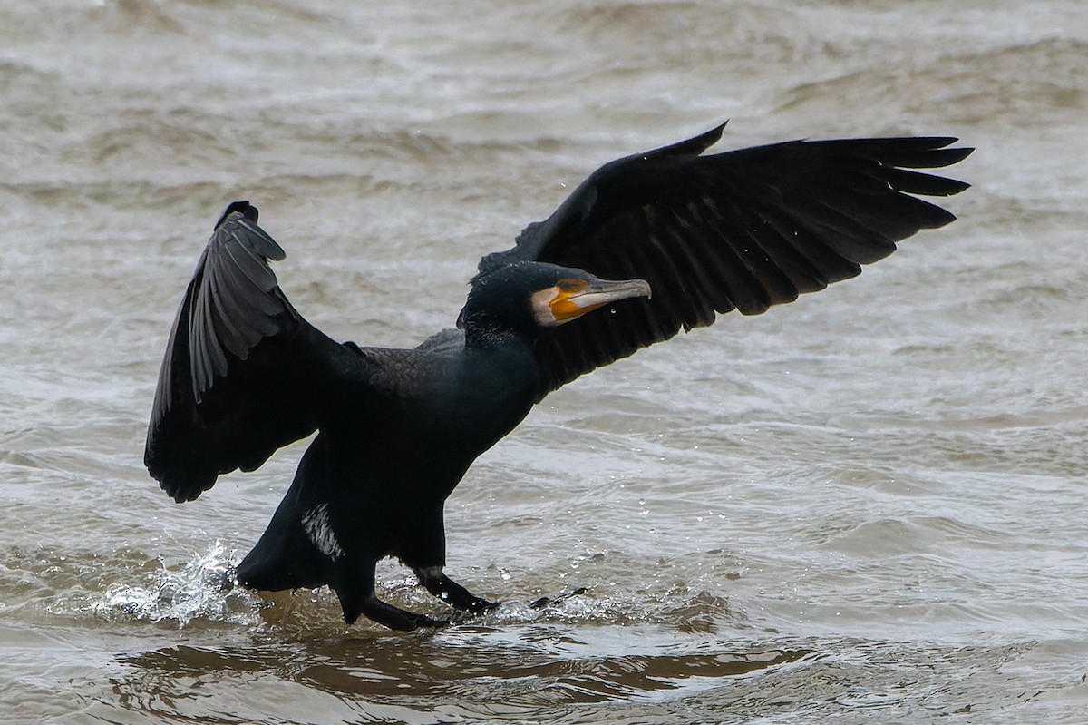
[[[247,201],[227,207],[197,262],[159,372],[144,463],[191,501],[318,426],[325,361],[345,349],[310,325],[268,261],[284,251]]]

